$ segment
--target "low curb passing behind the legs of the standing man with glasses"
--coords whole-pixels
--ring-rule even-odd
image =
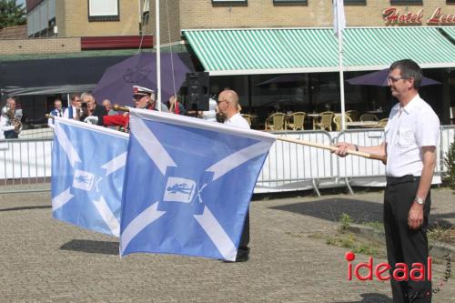
[[[386,244],[384,232],[374,229],[373,227],[368,227],[361,224],[351,224],[349,225],[348,230],[351,233],[359,235],[360,237],[366,237],[383,245]],[[447,243],[430,240],[429,248],[430,255],[436,258],[444,258],[447,255],[450,257],[455,256],[455,246]]]

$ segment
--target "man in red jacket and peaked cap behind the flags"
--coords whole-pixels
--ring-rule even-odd
[[[155,92],[147,87],[133,86],[133,100],[136,108],[147,108],[156,110]],[[161,105],[161,111],[167,112],[167,106]],[[97,116],[87,116],[84,122],[97,124],[98,126],[120,126],[120,129],[129,132],[129,113],[102,116],[98,119]]]

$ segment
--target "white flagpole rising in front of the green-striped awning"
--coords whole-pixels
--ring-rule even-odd
[[[346,129],[345,121],[345,98],[344,98],[344,75],[343,75],[343,29],[346,26],[344,15],[343,0],[333,0],[335,3],[335,18],[336,18],[336,35],[339,38],[339,95],[341,96],[341,130]]]

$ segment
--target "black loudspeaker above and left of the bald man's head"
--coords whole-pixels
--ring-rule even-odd
[[[207,72],[187,73],[187,110],[208,110]]]

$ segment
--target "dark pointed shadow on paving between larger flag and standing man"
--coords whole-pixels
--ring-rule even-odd
[[[382,222],[382,203],[348,198],[329,198],[312,202],[299,202],[272,209],[290,211],[305,216],[337,222],[343,213],[349,214],[354,223]]]

